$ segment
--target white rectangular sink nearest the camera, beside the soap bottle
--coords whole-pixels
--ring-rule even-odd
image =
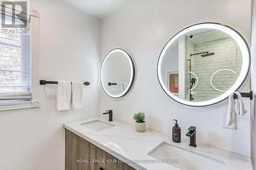
[[[179,163],[169,164],[182,170],[226,169],[226,164],[219,160],[192,152],[188,148],[176,147],[166,142],[159,144],[148,155],[159,160],[179,160]]]

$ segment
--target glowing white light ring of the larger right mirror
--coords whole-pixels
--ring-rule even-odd
[[[171,93],[167,89],[167,87],[164,85],[164,82],[163,82],[162,76],[161,76],[161,64],[162,64],[163,56],[164,56],[167,48],[170,46],[170,44],[172,44],[181,35],[184,35],[190,31],[197,30],[197,29],[215,29],[215,30],[220,30],[220,31],[228,34],[230,37],[232,37],[237,42],[238,46],[240,47],[240,50],[242,53],[242,58],[243,58],[242,69],[241,69],[241,72],[240,72],[240,75],[239,75],[237,81],[222,95],[218,96],[215,99],[211,99],[211,100],[204,101],[204,102],[190,102],[190,101],[185,101],[183,99],[178,98],[177,96],[175,96],[173,93]],[[190,27],[187,27],[187,28],[181,30],[180,32],[175,34],[165,44],[163,50],[160,53],[159,59],[158,59],[157,76],[158,76],[158,81],[159,81],[162,89],[164,90],[164,92],[170,98],[175,100],[176,102],[183,104],[183,105],[194,106],[194,107],[210,106],[210,105],[214,105],[214,104],[217,104],[219,102],[226,100],[231,93],[233,93],[234,91],[237,91],[243,85],[243,83],[245,82],[245,80],[249,74],[250,63],[251,63],[251,56],[250,56],[249,46],[248,46],[246,40],[244,39],[244,37],[238,31],[234,30],[233,28],[231,28],[229,26],[223,25],[221,23],[203,22],[203,23],[198,23],[196,25],[193,25],[193,26],[190,26]]]

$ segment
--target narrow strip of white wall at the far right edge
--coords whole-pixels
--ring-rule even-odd
[[[251,88],[254,100],[252,102],[251,115],[251,160],[253,169],[256,169],[256,1],[252,1],[252,23],[251,23]]]

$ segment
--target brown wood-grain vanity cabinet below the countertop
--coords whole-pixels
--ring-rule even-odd
[[[112,160],[111,162],[96,160]],[[65,130],[65,170],[135,170],[69,130]]]

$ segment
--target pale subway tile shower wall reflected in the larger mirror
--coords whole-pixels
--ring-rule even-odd
[[[210,78],[212,74],[217,70],[227,68],[236,71],[237,76],[239,76],[242,67],[240,48],[231,37],[203,42],[194,46],[195,53],[215,53],[215,55],[209,57],[194,56],[195,74],[199,79],[198,86],[195,88],[197,92],[194,95],[195,102],[214,99],[224,92],[218,91],[211,86]],[[220,71],[212,78],[212,84],[220,90],[227,90],[236,79],[237,77],[233,72]]]

